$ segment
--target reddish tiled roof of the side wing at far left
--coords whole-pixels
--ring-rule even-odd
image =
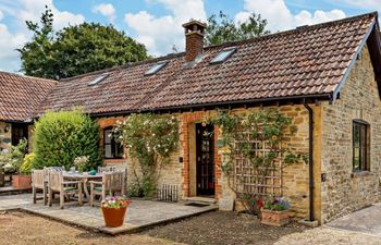
[[[57,82],[0,72],[0,121],[32,117]]]

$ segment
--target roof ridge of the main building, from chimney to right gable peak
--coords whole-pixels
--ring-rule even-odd
[[[316,28],[321,28],[321,27],[329,26],[329,25],[332,25],[332,24],[341,24],[341,23],[345,23],[345,22],[349,22],[349,21],[354,21],[354,20],[358,20],[358,19],[364,19],[365,16],[378,17],[378,12],[373,11],[373,12],[369,12],[369,13],[365,13],[365,14],[360,14],[360,15],[355,15],[355,16],[351,16],[351,17],[345,17],[345,19],[340,19],[340,20],[335,20],[335,21],[318,23],[318,24],[315,24],[315,25],[297,26],[297,27],[295,27],[293,29],[287,29],[287,30],[282,30],[282,32],[279,32],[279,33],[267,34],[267,35],[263,35],[263,36],[258,36],[258,37],[251,37],[251,38],[244,39],[244,40],[226,41],[226,42],[223,42],[221,45],[211,45],[211,46],[205,47],[204,50],[205,49],[218,48],[218,47],[241,45],[241,44],[251,42],[251,41],[255,41],[255,40],[269,39],[269,38],[273,38],[273,37],[291,35],[291,34],[294,34],[294,33],[299,33],[299,32],[306,32],[306,30],[311,30],[311,29],[316,29]],[[303,28],[300,28],[300,27],[303,27]]]

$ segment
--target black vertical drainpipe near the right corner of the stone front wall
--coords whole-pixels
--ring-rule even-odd
[[[309,167],[309,221],[314,221],[314,111],[307,103],[304,103],[309,114],[309,150],[308,150],[308,167]]]

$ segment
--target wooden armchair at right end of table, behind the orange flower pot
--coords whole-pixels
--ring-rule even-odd
[[[90,181],[90,206],[94,206],[94,197],[100,195],[102,200],[106,198],[106,194],[114,195],[115,192],[120,192],[124,195],[124,180],[125,172],[103,172],[102,181]]]

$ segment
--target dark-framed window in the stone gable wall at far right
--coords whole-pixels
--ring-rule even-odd
[[[358,126],[358,146],[356,146],[355,127]],[[370,124],[364,120],[353,120],[352,126],[352,168],[353,172],[370,171]],[[364,134],[364,135],[362,135]],[[365,142],[362,142],[365,140]],[[356,149],[358,149],[358,168],[356,168]],[[365,156],[362,156],[365,155]]]

